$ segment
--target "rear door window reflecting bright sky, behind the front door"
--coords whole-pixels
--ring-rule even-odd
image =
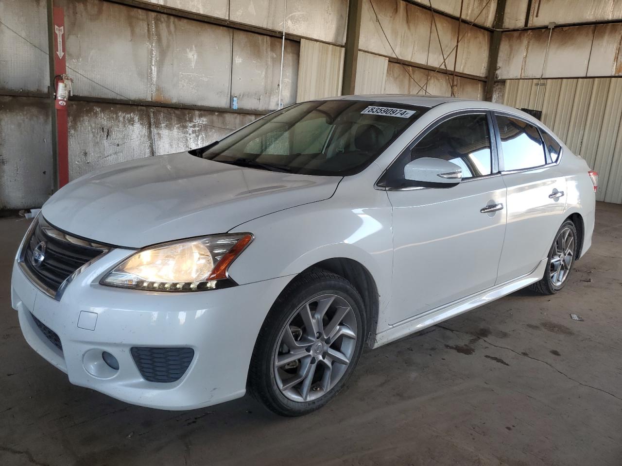
[[[544,146],[537,128],[527,122],[496,115],[504,170],[522,170],[545,165]]]

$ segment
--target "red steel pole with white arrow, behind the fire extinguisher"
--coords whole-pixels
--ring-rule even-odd
[[[54,34],[54,76],[55,83],[67,73],[67,48],[65,47],[65,12],[60,7],[53,11]],[[58,147],[58,188],[69,183],[69,136],[67,126],[67,106],[56,109],[56,132]]]

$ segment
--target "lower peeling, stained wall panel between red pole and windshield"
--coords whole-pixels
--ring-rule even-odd
[[[74,102],[69,107],[69,174],[207,145],[257,116]]]

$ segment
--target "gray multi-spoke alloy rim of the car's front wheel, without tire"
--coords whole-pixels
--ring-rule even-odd
[[[281,330],[274,378],[300,403],[317,400],[345,374],[356,349],[356,316],[346,299],[321,295],[302,304]]]

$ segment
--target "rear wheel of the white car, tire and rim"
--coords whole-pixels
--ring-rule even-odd
[[[566,234],[567,236],[564,239],[564,235]],[[570,272],[572,272],[572,265],[577,256],[577,238],[578,235],[575,224],[570,220],[565,221],[564,224],[559,227],[557,234],[555,234],[555,239],[549,250],[549,258],[542,280],[530,285],[529,288],[542,295],[554,295],[564,288],[566,283],[568,283],[568,277]],[[570,244],[570,239],[572,239],[572,244]],[[565,260],[561,259],[562,253],[564,253]],[[562,275],[555,276],[555,270],[557,269],[556,264],[560,264],[561,270],[564,272]]]

